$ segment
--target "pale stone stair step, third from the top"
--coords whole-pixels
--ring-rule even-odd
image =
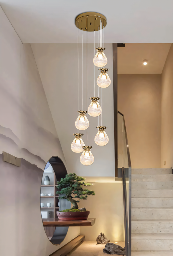
[[[131,182],[132,189],[172,189],[173,182],[172,181],[165,181],[165,182],[138,182],[133,181]]]

